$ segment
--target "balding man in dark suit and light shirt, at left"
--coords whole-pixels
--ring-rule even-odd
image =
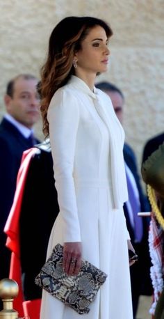
[[[33,137],[33,125],[40,116],[37,84],[33,75],[18,75],[8,83],[4,98],[6,114],[0,124],[0,279],[9,276],[10,251],[3,228],[13,203],[22,153],[39,142]]]

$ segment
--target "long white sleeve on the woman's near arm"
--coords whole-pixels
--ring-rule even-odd
[[[64,242],[80,242],[81,231],[74,187],[79,105],[72,92],[61,88],[55,93],[49,105],[48,120],[55,185],[64,223]]]

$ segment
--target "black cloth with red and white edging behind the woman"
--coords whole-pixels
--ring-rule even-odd
[[[14,306],[22,316],[39,319],[42,289],[35,285],[35,277],[46,260],[49,235],[59,212],[48,140],[24,151],[18,176],[5,226],[7,247],[13,251],[10,278],[19,284]]]

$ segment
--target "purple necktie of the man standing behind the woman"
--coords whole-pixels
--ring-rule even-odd
[[[127,169],[126,169],[126,182],[128,187],[129,201],[131,203],[131,208],[133,210],[135,241],[140,242],[142,240],[142,234],[143,234],[142,219],[141,217],[138,217],[138,212],[140,212],[140,202],[138,201],[138,198],[136,197],[136,194],[131,182],[131,178],[129,177],[129,172]]]

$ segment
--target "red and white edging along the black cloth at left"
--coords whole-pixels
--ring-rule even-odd
[[[4,232],[7,235],[6,247],[12,251],[11,261],[10,261],[10,274],[9,278],[17,281],[19,286],[19,293],[14,299],[13,305],[19,313],[19,316],[24,317],[24,295],[22,290],[22,272],[21,272],[21,263],[20,263],[20,246],[19,246],[19,215],[22,205],[22,198],[24,194],[24,185],[26,182],[26,176],[28,173],[28,167],[31,162],[31,158],[38,153],[38,148],[30,148],[25,150],[22,155],[22,162],[17,174],[17,187],[15,191],[15,196],[13,200],[13,205],[8,215]],[[34,316],[32,311],[32,301],[31,302],[31,319],[39,319],[39,314],[36,316],[35,305],[33,306]],[[35,300],[34,300],[35,304]],[[27,316],[27,313],[26,313]],[[29,315],[28,315],[29,316]]]

